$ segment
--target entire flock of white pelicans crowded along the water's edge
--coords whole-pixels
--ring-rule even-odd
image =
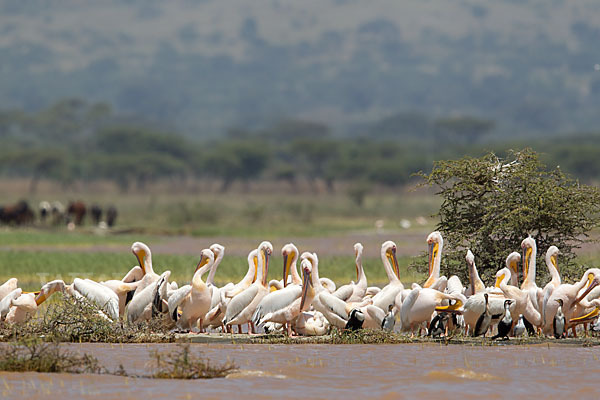
[[[0,319],[21,323],[31,318],[52,293],[70,294],[73,301],[85,298],[110,320],[130,323],[164,318],[183,332],[237,332],[248,325],[248,333],[282,331],[287,335],[324,335],[331,327],[341,329],[385,329],[407,334],[449,335],[462,330],[465,335],[508,338],[530,334],[565,337],[569,328],[584,324],[587,331],[600,329],[600,269],[587,269],[574,284],[561,282],[557,257],[551,246],[545,256],[552,279],[536,284],[536,242],[523,240],[523,256],[509,254],[506,267],[496,273],[493,286],[483,283],[475,256],[467,251],[469,282],[466,287],[457,276],[440,276],[443,239],[439,232],[427,237],[429,276],[423,285],[405,288],[400,280],[396,244],[381,245],[381,261],[389,279],[383,288],[369,286],[362,265],[363,246],[354,245],[356,282],[340,287],[320,277],[316,253],[299,253],[292,243],[281,249],[283,276],[267,281],[273,245],[264,241],[248,254],[248,272],[237,283],[218,287],[215,273],[225,248],[214,244],[204,249],[189,284],[179,287],[170,281],[170,271],[154,272],[150,248],[141,242],[131,250],[139,265],[121,280],[95,282],[75,278],[48,282],[39,292],[24,292],[16,278],[0,286]],[[522,282],[519,285],[519,263]],[[298,263],[300,272],[298,272]],[[208,274],[208,275],[207,275]],[[206,280],[205,280],[206,276]],[[596,322],[594,323],[594,321]],[[494,334],[495,333],[495,334]]]

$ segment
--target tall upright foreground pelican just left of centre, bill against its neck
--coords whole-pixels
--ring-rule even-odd
[[[251,318],[262,298],[269,293],[267,273],[269,271],[269,257],[272,254],[273,245],[270,242],[265,241],[258,246],[256,282],[231,299],[223,321],[225,326],[249,323],[250,332],[255,333]]]

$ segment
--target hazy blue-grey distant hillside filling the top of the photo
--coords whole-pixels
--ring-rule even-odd
[[[411,113],[504,135],[600,126],[597,0],[37,0],[0,15],[0,109],[74,96],[190,136],[281,118],[371,132]]]

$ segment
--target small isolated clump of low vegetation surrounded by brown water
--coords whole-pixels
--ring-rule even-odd
[[[151,367],[152,378],[160,379],[209,379],[223,378],[237,371],[237,366],[231,362],[221,365],[211,364],[202,355],[190,352],[189,344],[181,344],[172,353],[153,351]]]

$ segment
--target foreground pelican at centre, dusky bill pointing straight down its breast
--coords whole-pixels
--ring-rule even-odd
[[[256,308],[252,319],[254,324],[275,322],[287,325],[288,336],[292,335],[292,321],[301,312],[307,311],[315,297],[315,279],[312,275],[312,265],[309,260],[303,260],[302,286],[290,285],[285,289],[272,292],[265,296]],[[296,289],[300,288],[298,292]]]

